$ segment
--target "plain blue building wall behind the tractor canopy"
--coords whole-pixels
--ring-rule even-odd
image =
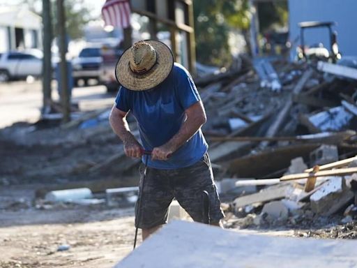
[[[289,0],[291,41],[300,36],[298,22],[315,20],[337,22],[337,26],[333,27],[333,29],[337,31],[337,43],[342,57],[357,56],[356,0]],[[304,37],[305,45],[323,43],[329,49],[330,40],[328,30],[325,28],[307,29]],[[300,44],[300,39],[298,44]]]

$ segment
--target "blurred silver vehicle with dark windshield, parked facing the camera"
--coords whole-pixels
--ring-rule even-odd
[[[73,79],[75,84],[79,80],[84,80],[84,84],[88,84],[90,79],[100,81],[102,55],[100,46],[89,46],[79,52],[78,57],[73,59]]]

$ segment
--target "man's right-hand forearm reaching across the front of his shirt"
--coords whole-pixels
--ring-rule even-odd
[[[179,147],[197,133],[199,128],[206,123],[206,112],[202,101],[191,105],[185,110],[186,120],[181,125],[179,132],[174,135],[167,143],[160,147],[155,147],[151,157],[158,160],[167,160],[170,154],[174,153]]]

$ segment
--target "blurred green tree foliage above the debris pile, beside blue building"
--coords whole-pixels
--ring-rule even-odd
[[[231,63],[228,36],[238,29],[245,37],[250,51],[250,20],[252,7],[249,0],[193,1],[197,60],[203,64],[227,66]],[[261,31],[273,25],[287,24],[287,1],[258,3]]]

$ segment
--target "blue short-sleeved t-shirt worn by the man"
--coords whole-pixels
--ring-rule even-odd
[[[132,112],[137,119],[144,149],[152,151],[179,132],[185,120],[185,110],[199,101],[201,98],[190,73],[175,63],[167,79],[157,87],[145,91],[121,87],[115,102],[119,110]],[[199,129],[167,161],[152,161],[149,157],[148,165],[162,170],[185,168],[199,161],[207,148],[208,144]]]

